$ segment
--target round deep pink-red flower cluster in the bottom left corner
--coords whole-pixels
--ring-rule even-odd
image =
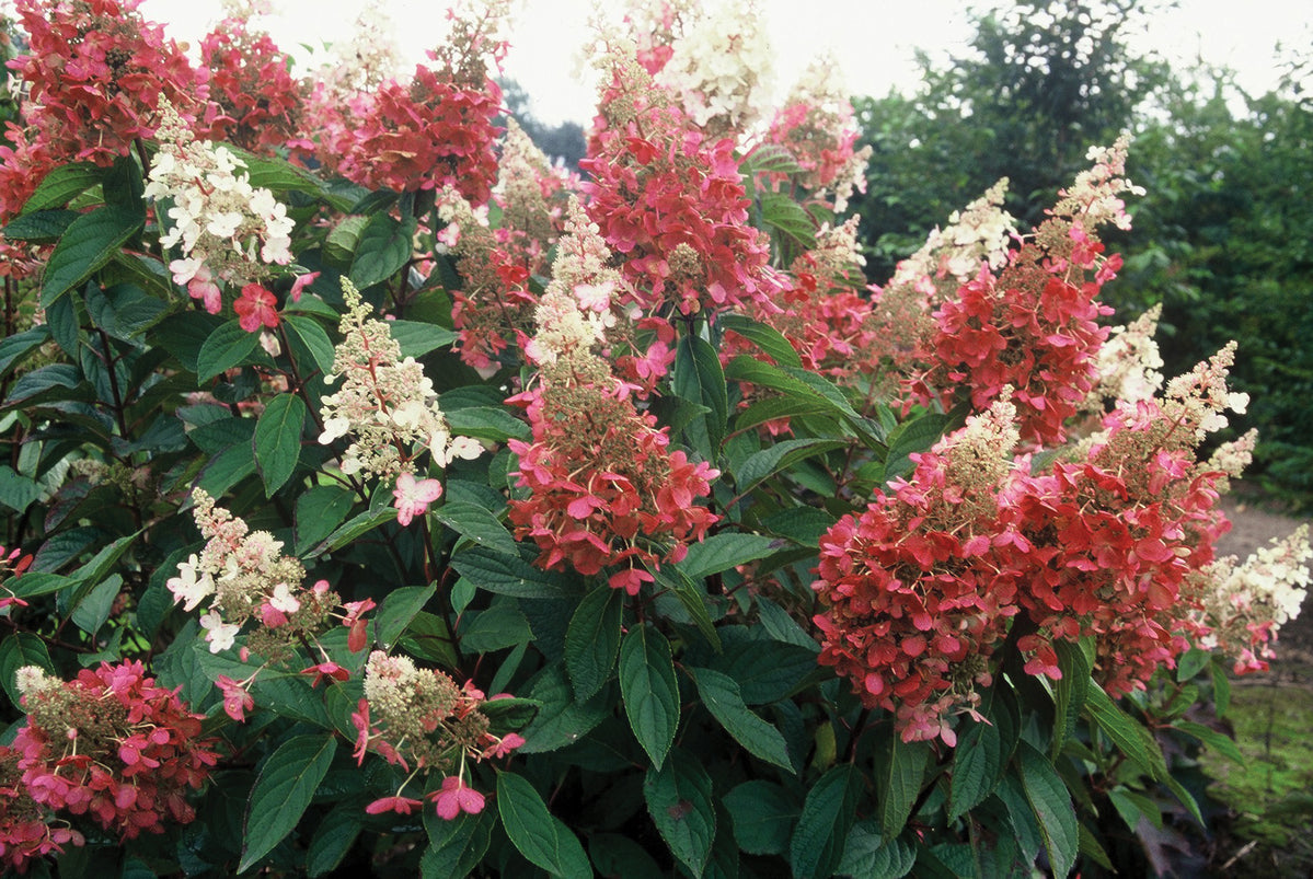
[[[24,707],[28,726],[13,748],[35,803],[91,815],[125,840],[196,817],[186,791],[218,761],[214,740],[200,737],[204,715],[156,686],[140,663],[102,663],[68,682],[42,678],[25,689]]]

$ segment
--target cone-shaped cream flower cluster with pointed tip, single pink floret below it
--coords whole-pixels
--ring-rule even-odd
[[[433,382],[419,361],[402,357],[387,323],[370,317],[372,308],[351,281],[343,278],[341,289],[347,314],[339,328],[344,338],[334,357],[334,374],[324,377],[326,383],[340,379],[341,386],[323,399],[319,434],[323,445],[351,434],[341,471],[379,478],[414,474],[411,450],[416,445],[425,446],[441,467],[482,454],[477,440],[452,436]]]

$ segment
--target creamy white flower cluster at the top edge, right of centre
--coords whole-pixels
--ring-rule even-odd
[[[741,133],[771,106],[775,52],[754,0],[726,0],[685,21],[671,49],[656,81],[702,129]]]

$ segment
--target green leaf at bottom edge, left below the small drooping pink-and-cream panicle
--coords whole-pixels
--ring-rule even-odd
[[[336,736],[309,735],[289,739],[269,754],[247,803],[238,872],[259,863],[291,833],[336,752]]]

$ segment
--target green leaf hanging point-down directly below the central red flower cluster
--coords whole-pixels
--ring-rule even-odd
[[[634,626],[620,645],[620,693],[629,727],[660,769],[679,728],[679,681],[670,643],[651,626]]]

